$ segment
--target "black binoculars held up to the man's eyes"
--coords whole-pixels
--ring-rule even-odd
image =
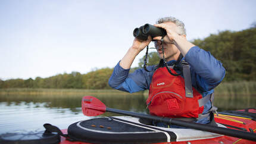
[[[166,30],[160,28],[160,27],[155,27],[151,24],[145,24],[144,26],[137,27],[133,30],[133,36],[136,37],[137,39],[141,40],[147,40],[148,36],[156,37],[156,36],[165,36],[166,35]]]

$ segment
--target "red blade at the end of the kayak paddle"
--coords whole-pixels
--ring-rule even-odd
[[[97,116],[104,114],[106,106],[99,99],[93,96],[83,96],[82,111],[87,116]]]

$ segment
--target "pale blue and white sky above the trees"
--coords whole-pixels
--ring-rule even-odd
[[[113,68],[132,46],[136,27],[173,16],[185,23],[188,40],[204,39],[248,29],[255,7],[254,0],[1,0],[0,79]]]

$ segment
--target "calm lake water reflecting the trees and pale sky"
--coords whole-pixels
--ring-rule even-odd
[[[0,134],[24,130],[44,130],[50,123],[60,129],[88,119],[82,113],[83,96],[0,96]],[[107,107],[147,113],[143,95],[95,96]],[[256,96],[216,96],[219,110],[256,107]],[[106,112],[103,116],[115,115]]]

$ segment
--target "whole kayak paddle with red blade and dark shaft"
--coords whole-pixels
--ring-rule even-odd
[[[93,96],[84,96],[82,99],[82,111],[87,116],[97,116],[104,114],[105,112],[114,112],[116,114],[129,115],[137,118],[146,118],[149,120],[162,121],[168,124],[174,124],[177,126],[188,127],[191,129],[202,130],[211,133],[223,134],[226,136],[238,137],[241,139],[248,139],[256,141],[256,134],[249,132],[242,132],[239,130],[227,129],[224,127],[210,126],[207,124],[193,123],[182,120],[177,120],[168,117],[157,117],[155,115],[140,114],[137,112],[124,111],[120,109],[108,108],[99,99]]]

